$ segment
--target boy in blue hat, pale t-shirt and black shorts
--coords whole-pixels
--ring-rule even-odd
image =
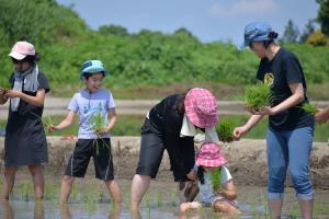
[[[95,177],[104,181],[116,205],[122,201],[120,187],[114,181],[110,142],[110,131],[116,122],[115,103],[112,93],[101,89],[106,72],[100,60],[86,61],[80,71],[86,88],[71,99],[66,118],[57,126],[48,127],[50,131],[65,129],[79,114],[78,141],[61,181],[60,203],[67,203],[75,177],[84,176],[91,157]]]

